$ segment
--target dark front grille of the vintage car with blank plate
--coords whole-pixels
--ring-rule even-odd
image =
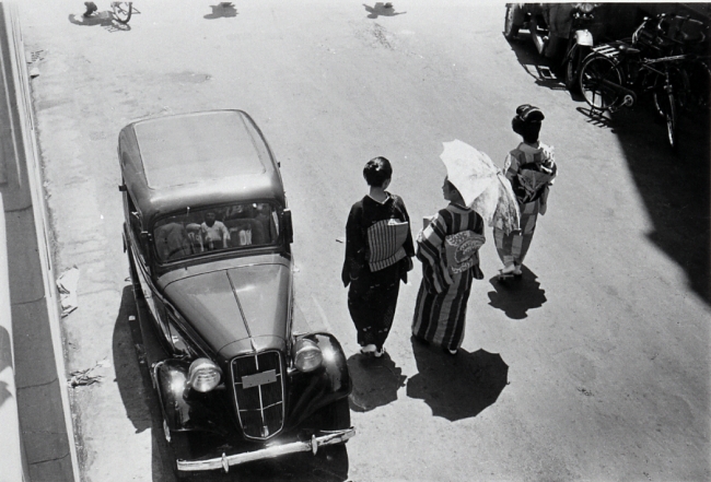
[[[265,352],[232,360],[237,416],[247,438],[267,439],[284,423],[281,354]]]

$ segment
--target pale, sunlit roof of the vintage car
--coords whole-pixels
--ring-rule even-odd
[[[124,181],[144,220],[185,207],[277,200],[281,175],[261,131],[242,110],[138,120],[119,134]]]

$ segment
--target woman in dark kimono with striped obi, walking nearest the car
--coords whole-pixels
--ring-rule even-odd
[[[385,157],[369,161],[363,177],[370,193],[356,202],[346,224],[346,261],[341,279],[361,353],[383,355],[400,281],[412,269],[415,246],[403,200],[389,192],[393,168]]]

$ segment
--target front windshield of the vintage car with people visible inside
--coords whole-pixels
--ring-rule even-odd
[[[272,245],[278,237],[279,220],[268,202],[186,208],[158,221],[153,228],[160,262],[208,251]]]

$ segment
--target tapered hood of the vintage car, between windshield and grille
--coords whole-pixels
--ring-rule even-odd
[[[220,356],[285,348],[291,270],[279,263],[195,273],[165,286],[167,298]]]

